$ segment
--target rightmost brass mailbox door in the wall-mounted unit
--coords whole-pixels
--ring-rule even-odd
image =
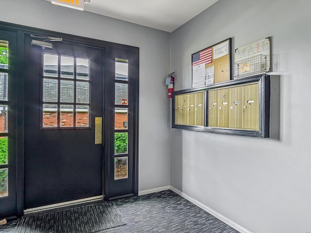
[[[259,130],[259,83],[243,86],[243,129]]]

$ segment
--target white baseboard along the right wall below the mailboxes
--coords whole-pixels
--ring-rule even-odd
[[[179,196],[182,196],[184,199],[189,200],[190,202],[192,202],[196,206],[205,210],[207,213],[211,214],[212,216],[217,217],[219,220],[221,220],[225,224],[229,225],[233,229],[237,230],[238,232],[240,232],[240,233],[252,233],[249,230],[245,229],[244,227],[240,226],[238,223],[236,223],[236,222],[230,220],[229,218],[219,214],[215,210],[213,210],[213,209],[209,208],[208,206],[202,204],[200,201],[195,200],[194,198],[191,198],[190,196],[188,196],[187,194],[185,194],[185,193],[181,192],[180,190],[174,188],[173,186],[170,186],[170,189],[173,192],[177,193]]]

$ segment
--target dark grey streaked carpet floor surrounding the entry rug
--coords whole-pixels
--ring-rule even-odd
[[[114,203],[127,225],[99,233],[238,233],[171,190]],[[13,233],[16,224],[0,226],[0,233]]]

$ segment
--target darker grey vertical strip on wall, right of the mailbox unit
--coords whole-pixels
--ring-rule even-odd
[[[270,138],[280,140],[280,76],[270,75]]]

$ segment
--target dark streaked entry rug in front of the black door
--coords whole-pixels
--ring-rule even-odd
[[[92,233],[126,225],[113,202],[22,217],[14,233]]]

